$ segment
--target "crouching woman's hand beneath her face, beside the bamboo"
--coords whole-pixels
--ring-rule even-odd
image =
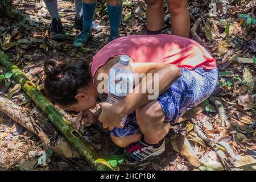
[[[89,109],[80,111],[79,115],[76,117],[76,129],[79,130],[82,125],[90,126],[96,123],[97,119]]]

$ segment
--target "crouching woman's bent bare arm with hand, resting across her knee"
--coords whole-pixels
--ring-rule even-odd
[[[134,93],[135,90],[142,90],[143,85],[154,85],[155,81],[159,81],[158,94],[160,95],[181,76],[180,69],[173,64],[132,63],[131,65],[135,73],[145,73],[146,75],[151,73],[152,79],[148,80],[147,76],[143,77],[142,81],[135,86],[132,93],[129,93],[122,101],[114,105],[102,103],[102,112],[99,120],[103,123],[103,127],[110,127],[110,129],[112,129],[113,126],[123,127],[120,122],[125,115],[152,101],[149,99],[152,93],[149,93],[148,90],[146,90],[146,93]],[[154,74],[159,75],[158,80],[155,80]]]

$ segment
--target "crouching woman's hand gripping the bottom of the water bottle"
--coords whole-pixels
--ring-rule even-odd
[[[102,123],[102,126],[106,129],[113,130],[114,127],[123,128],[121,121],[125,117],[122,113],[118,113],[118,109],[115,105],[109,104],[107,102],[102,102],[101,104],[101,114],[98,120]]]

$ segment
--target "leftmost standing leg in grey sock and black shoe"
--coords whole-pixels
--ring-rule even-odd
[[[44,0],[47,10],[52,19],[51,37],[53,39],[64,39],[63,26],[58,13],[57,0]]]

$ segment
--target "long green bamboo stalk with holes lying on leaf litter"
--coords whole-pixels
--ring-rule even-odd
[[[44,97],[44,95],[27,78],[27,76],[24,75],[18,67],[16,67],[16,65],[10,62],[9,57],[7,57],[2,51],[0,51],[0,63],[13,73],[14,81],[22,85],[23,90],[43,111],[60,133],[68,139],[77,152],[85,158],[90,167],[97,171],[113,170],[106,160],[99,155],[89,143],[86,142],[82,135],[78,134],[75,127],[73,127],[71,123],[55,109],[51,102]]]

